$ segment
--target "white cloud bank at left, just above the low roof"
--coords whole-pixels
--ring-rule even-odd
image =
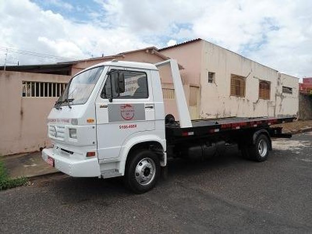
[[[44,11],[28,0],[0,2],[0,48],[40,52],[72,59],[115,54],[149,46],[127,28],[103,28],[90,23],[77,23],[50,10]],[[0,50],[3,65],[4,51]],[[20,64],[53,63],[42,59],[9,52],[8,61]]]

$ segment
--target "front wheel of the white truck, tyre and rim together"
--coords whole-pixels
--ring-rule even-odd
[[[150,150],[137,150],[127,162],[124,182],[136,194],[153,189],[160,176],[157,155]]]

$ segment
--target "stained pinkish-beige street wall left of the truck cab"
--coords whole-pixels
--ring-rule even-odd
[[[50,145],[46,118],[57,98],[22,97],[22,81],[65,82],[69,76],[0,71],[0,155]]]

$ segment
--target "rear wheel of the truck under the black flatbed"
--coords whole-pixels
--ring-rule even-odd
[[[246,152],[247,153],[247,152]],[[270,154],[270,140],[264,135],[260,134],[255,140],[255,144],[248,148],[248,157],[257,162],[263,162],[268,159]]]

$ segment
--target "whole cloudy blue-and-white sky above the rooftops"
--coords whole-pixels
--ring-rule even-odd
[[[312,77],[311,0],[0,0],[0,19],[1,66],[5,58],[55,63],[201,38]]]

